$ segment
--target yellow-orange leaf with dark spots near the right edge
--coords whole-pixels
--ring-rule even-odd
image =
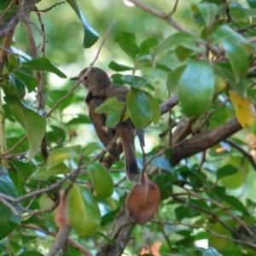
[[[255,109],[253,103],[237,94],[234,90],[230,90],[230,100],[236,110],[236,118],[243,128],[253,125],[256,120]]]

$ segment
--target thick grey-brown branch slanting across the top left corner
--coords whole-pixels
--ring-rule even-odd
[[[20,20],[28,15],[38,2],[40,2],[40,0],[26,0],[26,4],[20,4],[15,15],[0,24],[0,38],[3,38],[9,31],[14,29]]]

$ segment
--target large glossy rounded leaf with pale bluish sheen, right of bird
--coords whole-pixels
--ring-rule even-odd
[[[207,61],[191,61],[178,80],[177,96],[189,117],[207,111],[215,90],[215,76]]]

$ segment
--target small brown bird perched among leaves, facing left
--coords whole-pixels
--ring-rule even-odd
[[[79,73],[78,78],[84,77],[88,68],[84,68]],[[119,102],[126,102],[126,96],[129,90],[125,86],[113,85],[108,78],[108,74],[102,69],[92,67],[90,73],[84,77],[81,84],[89,91],[85,97],[85,102],[89,108],[89,116],[92,121],[96,134],[105,147],[113,140],[117,127],[106,129],[107,116],[102,113],[96,113],[95,109],[99,107],[102,102],[105,102],[111,97],[116,97]],[[139,170],[137,167],[137,160],[134,147],[135,128],[131,119],[127,119],[119,125],[118,132],[125,153],[125,170],[128,179],[132,182],[137,182],[139,178]],[[108,147],[108,152],[114,160],[119,160],[119,152],[117,144]]]

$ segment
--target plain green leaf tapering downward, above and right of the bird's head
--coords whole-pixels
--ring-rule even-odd
[[[136,44],[136,38],[134,34],[128,32],[119,32],[119,34],[114,38],[121,49],[123,49],[132,61],[137,57],[138,47]]]

